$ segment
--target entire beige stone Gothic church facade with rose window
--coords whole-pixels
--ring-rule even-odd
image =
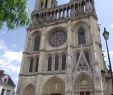
[[[19,74],[19,95],[110,95],[94,0],[37,0]]]

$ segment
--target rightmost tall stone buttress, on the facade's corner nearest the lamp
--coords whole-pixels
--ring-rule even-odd
[[[101,77],[101,67],[99,66],[99,56],[97,56],[97,47],[96,47],[96,20],[93,17],[90,17],[90,31],[91,31],[91,39],[92,45],[92,66],[94,73],[94,87],[95,87],[95,95],[103,95],[103,85],[102,85],[102,77]]]

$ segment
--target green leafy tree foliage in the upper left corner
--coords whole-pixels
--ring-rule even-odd
[[[28,25],[26,3],[27,0],[0,0],[0,28],[4,23],[8,29]]]

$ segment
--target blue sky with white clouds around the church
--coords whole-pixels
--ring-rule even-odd
[[[58,4],[68,3],[69,0],[57,0]],[[27,10],[31,14],[34,9],[35,0],[28,0]],[[102,33],[106,27],[110,32],[108,44],[110,50],[111,63],[113,67],[113,0],[95,0],[95,8],[100,25],[100,35],[105,54],[105,61],[108,65],[106,46]],[[21,27],[13,31],[8,30],[6,26],[0,29],[0,70],[9,74],[15,84],[18,81],[18,74],[22,59],[22,52],[26,37],[26,27]]]

